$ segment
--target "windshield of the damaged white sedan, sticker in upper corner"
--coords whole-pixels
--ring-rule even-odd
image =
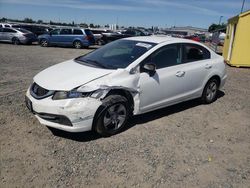
[[[149,42],[117,40],[87,55],[80,56],[75,61],[106,69],[126,68],[155,45]]]

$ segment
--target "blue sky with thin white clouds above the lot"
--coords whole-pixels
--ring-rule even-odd
[[[0,17],[120,26],[207,28],[237,15],[243,0],[0,0]],[[246,0],[244,10],[250,9]]]

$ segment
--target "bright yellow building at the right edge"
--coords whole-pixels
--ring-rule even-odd
[[[250,10],[228,20],[223,57],[229,65],[250,67]]]

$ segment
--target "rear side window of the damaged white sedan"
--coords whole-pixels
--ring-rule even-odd
[[[183,45],[183,63],[210,59],[210,52],[197,44]]]

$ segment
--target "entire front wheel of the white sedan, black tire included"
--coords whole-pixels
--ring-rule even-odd
[[[127,98],[121,95],[110,95],[103,100],[97,110],[94,130],[105,137],[115,135],[123,130],[129,115]]]

